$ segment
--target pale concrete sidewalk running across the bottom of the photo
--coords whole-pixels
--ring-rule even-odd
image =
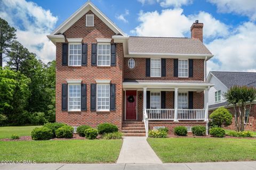
[[[255,170],[256,162],[180,164],[34,164],[0,165],[1,170]]]

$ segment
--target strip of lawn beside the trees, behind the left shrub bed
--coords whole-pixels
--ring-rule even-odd
[[[31,131],[39,126],[6,126],[0,127],[0,139],[10,138],[11,135],[30,136]]]

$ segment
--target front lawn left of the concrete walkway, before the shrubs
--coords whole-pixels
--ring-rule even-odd
[[[36,163],[114,163],[122,140],[0,141],[0,160]]]

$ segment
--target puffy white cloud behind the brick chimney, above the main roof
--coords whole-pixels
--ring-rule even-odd
[[[140,12],[141,22],[131,33],[138,36],[185,37],[195,20],[204,23],[204,38],[225,37],[228,26],[206,12],[186,16],[181,8],[162,10],[161,13]]]

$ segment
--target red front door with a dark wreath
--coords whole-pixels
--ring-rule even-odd
[[[137,119],[137,91],[126,90],[126,120]]]

